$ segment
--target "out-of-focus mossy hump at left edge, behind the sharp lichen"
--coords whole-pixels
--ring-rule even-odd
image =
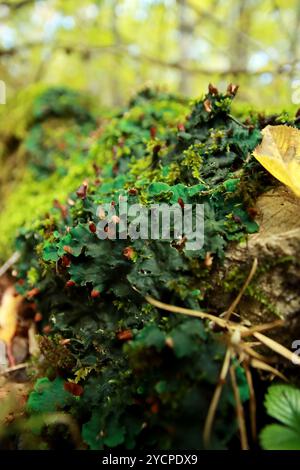
[[[28,102],[27,95],[26,99],[20,97],[18,106],[24,106],[24,102]],[[24,141],[16,154],[5,155],[0,212],[2,260],[13,250],[20,228],[29,228],[50,210],[53,200],[64,201],[70,187],[93,173],[91,165],[84,164],[87,134],[94,125],[84,107],[86,100],[67,89],[41,93],[38,88],[30,94],[30,104],[26,118],[22,118],[25,128],[17,134]]]

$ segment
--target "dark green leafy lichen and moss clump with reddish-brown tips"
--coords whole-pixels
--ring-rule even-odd
[[[68,185],[63,189],[70,190],[64,210],[51,208],[17,240],[18,291],[26,295],[38,278],[42,326],[51,323],[54,343],[56,335],[71,339],[76,361],[63,374],[80,379],[84,388],[79,421],[92,449],[203,447],[200,436],[225,346],[205,322],[163,316],[145,296],[212,310],[211,279],[227,247],[258,228],[243,184],[257,173],[249,153],[260,141],[260,125],[257,121],[253,129],[232,119],[233,90],[221,94],[210,87],[188,110],[175,97],[149,89],[140,93],[96,131],[88,152],[81,148],[81,168],[95,172],[84,194],[62,179]],[[189,115],[182,122],[184,109]],[[56,154],[51,157],[57,165]],[[264,174],[259,172],[255,185]],[[113,202],[118,210],[124,196],[134,203],[203,204],[204,246],[191,252],[184,233],[168,241],[100,241],[91,230],[99,202]],[[246,274],[244,268],[233,270],[225,291],[238,291]],[[267,304],[252,286],[247,295]],[[53,344],[47,346],[52,353]],[[247,400],[242,367],[238,386],[241,400]],[[215,448],[230,446],[237,430],[233,404],[226,383],[213,430]]]

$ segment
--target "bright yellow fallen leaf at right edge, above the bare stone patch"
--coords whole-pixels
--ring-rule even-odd
[[[300,130],[289,126],[267,126],[254,157],[271,175],[300,196]]]

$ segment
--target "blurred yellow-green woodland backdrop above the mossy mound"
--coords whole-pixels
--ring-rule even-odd
[[[149,81],[190,97],[234,81],[240,103],[300,102],[299,0],[7,0],[0,21],[8,100],[35,83],[110,106]]]

